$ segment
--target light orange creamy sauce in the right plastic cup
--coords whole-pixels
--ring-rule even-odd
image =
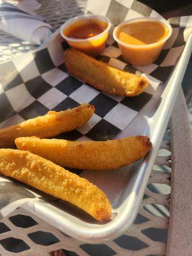
[[[120,27],[117,37],[125,44],[147,45],[163,40],[169,29],[162,22],[140,21]]]

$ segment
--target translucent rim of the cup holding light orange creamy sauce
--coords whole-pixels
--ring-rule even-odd
[[[122,26],[124,26],[124,24],[130,24],[130,23],[134,23],[137,21],[148,21],[148,20],[153,20],[153,21],[158,21],[158,22],[162,22],[163,24],[165,24],[168,29],[169,29],[169,33],[168,35],[163,38],[161,41],[158,41],[156,43],[153,44],[146,44],[146,45],[134,45],[134,44],[127,44],[125,42],[122,42],[121,40],[118,39],[118,37],[116,36],[116,32],[118,31],[118,29]],[[115,29],[113,30],[113,38],[115,39],[115,41],[118,44],[123,45],[124,47],[130,47],[130,48],[134,48],[134,49],[140,49],[140,48],[148,48],[148,47],[152,47],[158,44],[161,44],[163,42],[166,42],[166,40],[168,40],[170,38],[170,36],[172,35],[172,26],[163,18],[152,18],[152,17],[140,17],[140,18],[134,18],[134,19],[130,19],[130,20],[125,20],[124,22],[121,22],[120,24],[118,24],[118,26],[115,27]]]

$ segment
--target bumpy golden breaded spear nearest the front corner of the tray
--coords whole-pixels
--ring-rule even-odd
[[[111,217],[107,196],[95,185],[28,151],[0,149],[0,173],[83,209],[99,221]]]

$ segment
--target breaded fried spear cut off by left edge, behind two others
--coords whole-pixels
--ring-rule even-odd
[[[84,103],[77,108],[65,111],[49,111],[44,116],[37,116],[20,124],[0,129],[0,148],[12,147],[15,138],[36,136],[51,138],[62,132],[68,132],[86,123],[95,111],[94,106]]]

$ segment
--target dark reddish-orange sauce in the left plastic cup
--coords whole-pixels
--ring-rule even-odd
[[[81,20],[69,26],[64,33],[69,38],[86,39],[99,35],[107,27],[107,22],[98,22],[97,20]]]

